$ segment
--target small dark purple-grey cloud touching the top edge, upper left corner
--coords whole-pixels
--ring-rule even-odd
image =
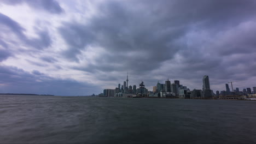
[[[34,9],[42,9],[48,11],[49,13],[60,14],[64,10],[60,7],[60,4],[55,0],[2,0],[0,3],[17,5],[21,3],[26,3]]]

